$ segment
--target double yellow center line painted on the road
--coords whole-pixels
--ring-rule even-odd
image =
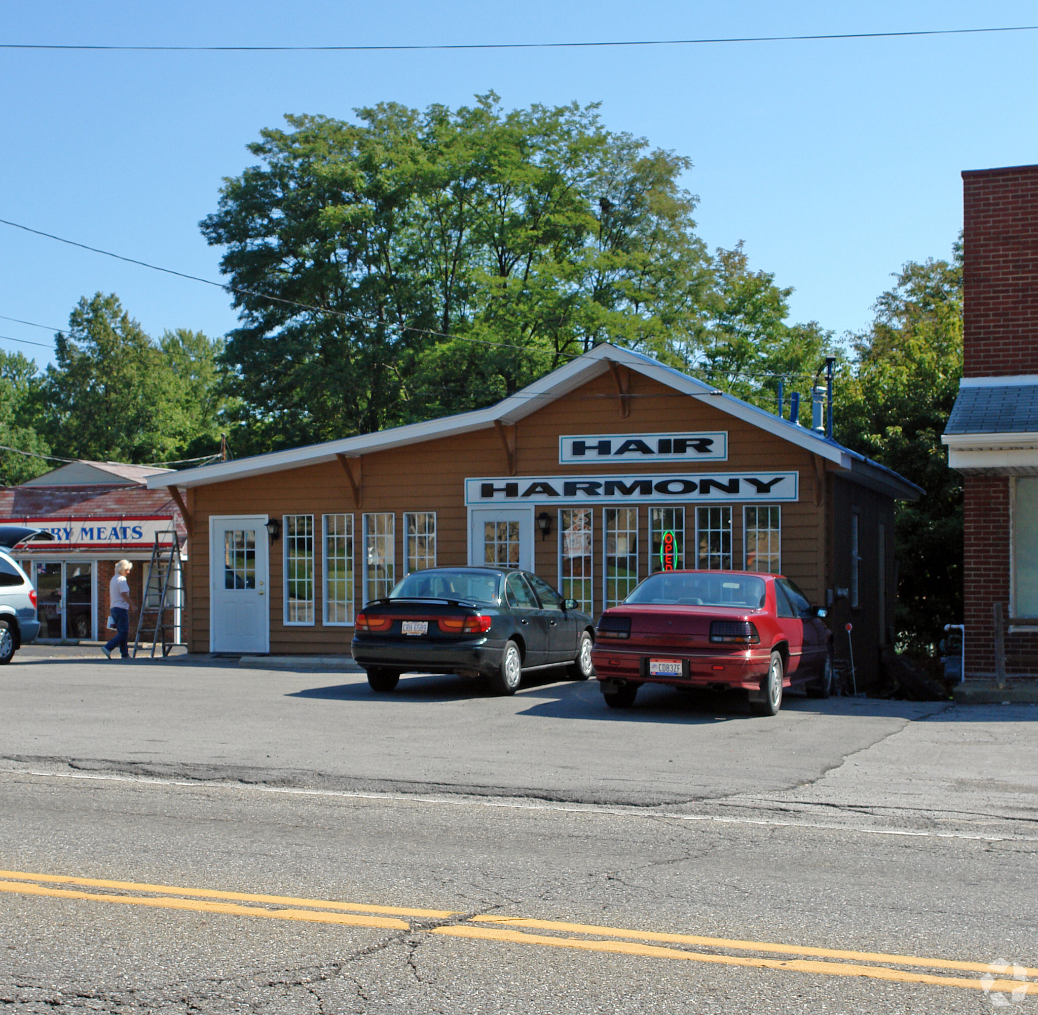
[[[59,887],[61,885],[62,887]],[[75,887],[66,887],[74,885]],[[107,890],[82,890],[86,888]],[[604,952],[646,958],[700,962],[714,965],[781,969],[812,975],[858,977],[905,984],[960,987],[989,992],[1038,994],[1038,969],[1012,970],[1019,979],[996,979],[1005,970],[983,962],[959,962],[913,955],[853,952],[808,948],[774,941],[748,941],[693,934],[667,934],[628,928],[573,924],[563,921],[483,915],[465,917],[449,909],[418,909],[400,906],[372,906],[325,899],[253,895],[184,888],[134,881],[106,881],[53,874],[0,871],[0,893],[75,899],[117,905],[148,906],[191,912],[290,920],[313,924],[339,924],[379,930],[408,931],[461,937],[470,940],[501,941],[510,944]],[[118,894],[115,894],[118,893]],[[540,933],[531,933],[540,932]],[[693,951],[709,949],[711,951]],[[753,953],[753,954],[731,954]],[[768,958],[767,956],[778,956]],[[783,958],[782,956],[788,956]],[[936,971],[944,970],[945,975]],[[949,973],[980,973],[966,977]]]

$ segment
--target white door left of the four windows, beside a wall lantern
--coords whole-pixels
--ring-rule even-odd
[[[270,651],[266,515],[210,519],[213,652]]]

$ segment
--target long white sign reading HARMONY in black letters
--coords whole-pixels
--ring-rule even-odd
[[[545,475],[466,479],[465,503],[568,504],[796,500],[798,472],[683,472],[663,475]]]

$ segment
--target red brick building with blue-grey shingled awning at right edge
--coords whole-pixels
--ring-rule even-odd
[[[1038,673],[1038,166],[962,173],[963,377],[943,438],[963,473],[966,677]],[[1022,623],[1021,623],[1022,622]]]

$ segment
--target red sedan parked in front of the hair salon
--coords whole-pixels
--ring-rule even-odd
[[[612,708],[630,708],[643,684],[670,684],[741,688],[756,714],[774,715],[785,687],[828,697],[824,615],[781,575],[662,571],[602,614],[592,659]]]

